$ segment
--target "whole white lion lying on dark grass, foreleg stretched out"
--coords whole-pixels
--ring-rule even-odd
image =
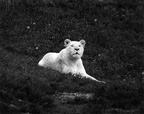
[[[64,45],[66,48],[62,49],[59,53],[54,52],[47,53],[39,61],[38,65],[45,68],[52,68],[61,73],[65,74],[71,73],[74,76],[80,75],[82,77],[104,83],[104,81],[99,81],[94,77],[88,75],[85,71],[81,59],[84,52],[85,44],[86,44],[85,40],[80,40],[78,42],[66,39],[64,41]]]

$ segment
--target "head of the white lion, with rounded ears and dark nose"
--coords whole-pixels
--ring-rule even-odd
[[[79,59],[82,57],[84,52],[85,40],[71,41],[66,39],[64,45],[66,47],[67,53],[70,59]]]

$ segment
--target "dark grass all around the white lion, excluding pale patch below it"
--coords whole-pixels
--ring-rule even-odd
[[[143,112],[143,5],[143,0],[1,0],[0,113]],[[66,38],[87,41],[84,66],[106,84],[37,66],[45,53],[59,52]],[[56,106],[53,95],[59,92],[95,95]]]

